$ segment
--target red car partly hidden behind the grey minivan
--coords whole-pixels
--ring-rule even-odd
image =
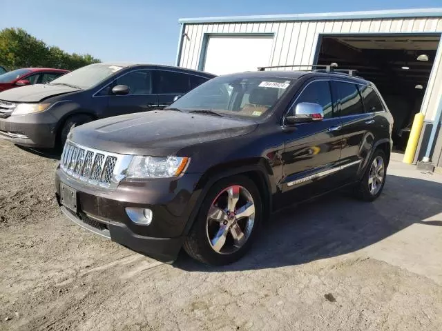
[[[50,68],[23,68],[0,74],[0,92],[19,86],[44,84],[56,79],[68,70]]]

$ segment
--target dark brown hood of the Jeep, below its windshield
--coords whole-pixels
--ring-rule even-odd
[[[86,123],[68,139],[107,152],[166,156],[197,143],[247,134],[256,126],[241,119],[158,110]]]

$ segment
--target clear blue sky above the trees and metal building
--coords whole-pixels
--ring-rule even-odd
[[[441,0],[0,0],[0,29],[103,61],[174,64],[183,17],[437,8]]]

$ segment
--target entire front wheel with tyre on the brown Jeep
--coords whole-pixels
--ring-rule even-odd
[[[251,247],[262,219],[256,185],[244,176],[215,183],[184,243],[190,257],[211,265],[238,261]]]

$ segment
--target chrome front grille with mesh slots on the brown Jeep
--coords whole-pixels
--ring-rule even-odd
[[[66,141],[60,168],[69,177],[86,185],[116,188],[124,178],[132,156],[94,150]]]

